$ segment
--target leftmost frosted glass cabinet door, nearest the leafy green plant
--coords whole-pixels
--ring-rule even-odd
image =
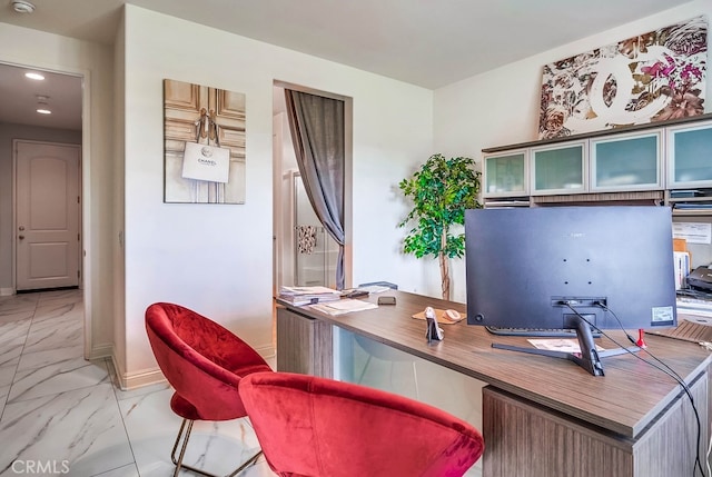
[[[484,197],[513,197],[528,193],[526,150],[506,151],[484,158]]]

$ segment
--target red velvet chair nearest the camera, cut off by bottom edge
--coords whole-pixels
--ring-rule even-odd
[[[464,420],[365,386],[259,372],[239,392],[269,467],[283,477],[455,477],[484,450]]]

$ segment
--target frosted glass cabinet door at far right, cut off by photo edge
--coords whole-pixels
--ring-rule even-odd
[[[668,130],[668,188],[712,187],[712,122]]]

